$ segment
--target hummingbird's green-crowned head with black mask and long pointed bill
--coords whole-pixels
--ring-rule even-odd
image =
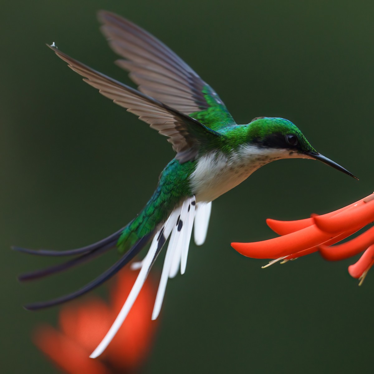
[[[289,120],[278,117],[257,117],[248,126],[249,142],[259,147],[279,151],[279,159],[307,158],[320,160],[356,178],[342,166],[318,153],[307,141],[303,133]]]

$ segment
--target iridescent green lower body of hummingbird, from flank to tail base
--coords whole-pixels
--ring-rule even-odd
[[[177,159],[168,163],[150,200],[123,230],[117,242],[121,253],[128,251],[143,236],[159,228],[170,213],[186,197],[191,196],[188,177],[193,172],[195,163],[196,161],[180,163]]]

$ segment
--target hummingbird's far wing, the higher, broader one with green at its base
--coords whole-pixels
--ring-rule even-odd
[[[125,58],[116,63],[141,92],[213,130],[235,124],[214,89],[160,40],[114,13],[102,10],[98,18],[111,48]]]

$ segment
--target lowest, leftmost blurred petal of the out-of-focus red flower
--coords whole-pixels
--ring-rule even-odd
[[[89,358],[90,351],[50,326],[39,327],[33,340],[66,373],[110,374],[99,360]]]

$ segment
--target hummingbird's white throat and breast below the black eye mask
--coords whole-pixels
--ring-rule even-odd
[[[236,187],[261,166],[292,157],[288,151],[243,145],[229,156],[214,151],[197,161],[190,176],[191,191],[196,201],[209,202]]]

